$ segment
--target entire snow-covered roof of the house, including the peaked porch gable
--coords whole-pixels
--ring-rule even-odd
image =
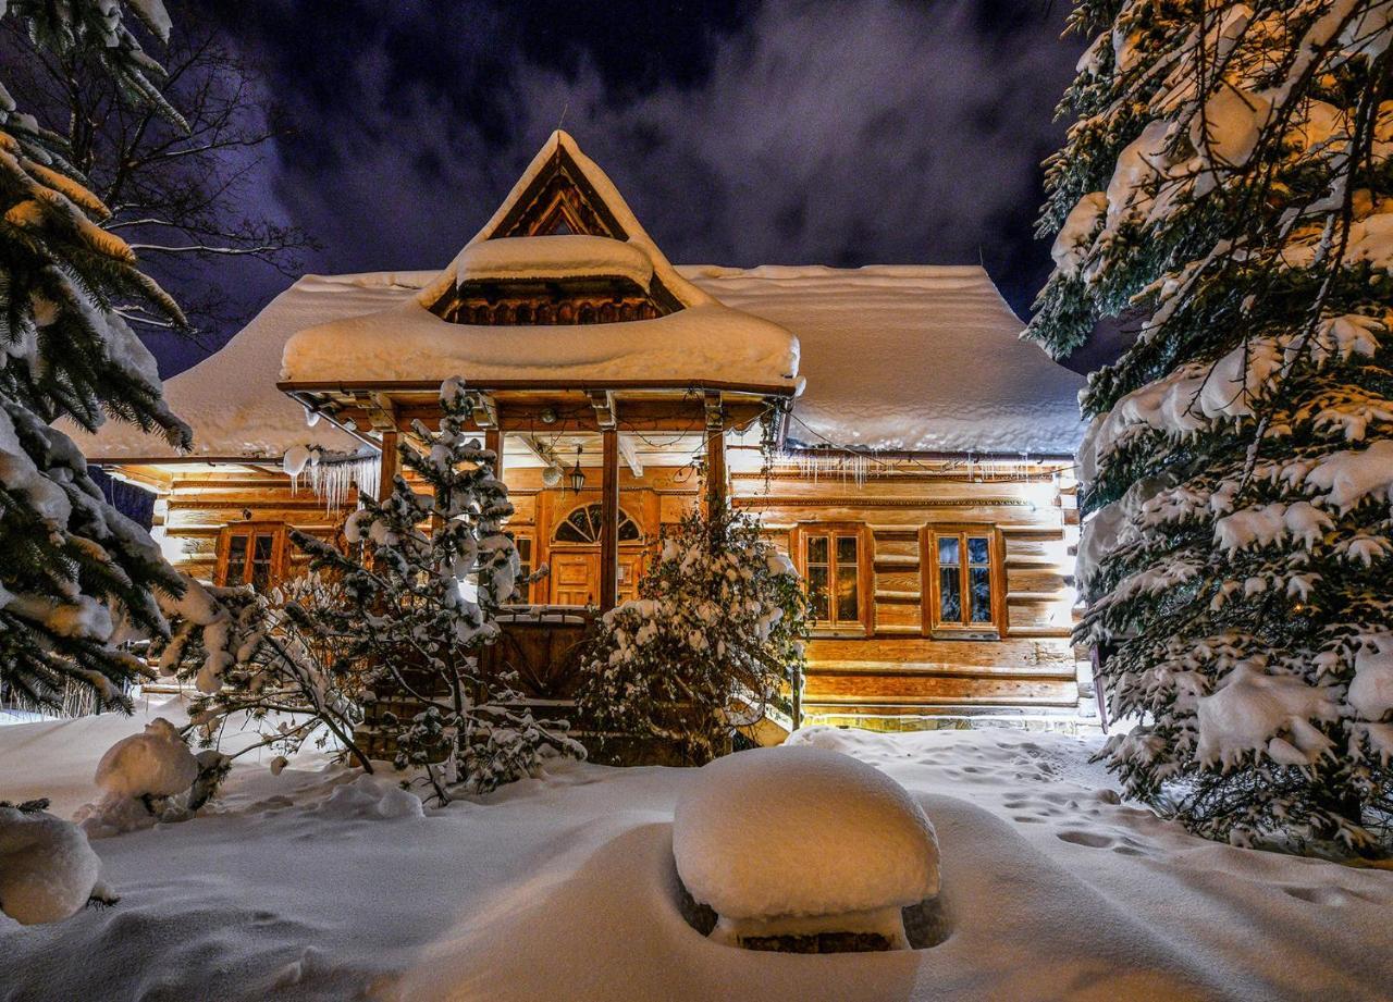
[[[564,170],[609,235],[518,237]],[[525,230],[525,227],[521,227]],[[663,316],[600,324],[482,326],[432,312],[461,281],[617,277],[663,294]],[[439,273],[306,276],[227,347],[166,383],[195,456],[279,456],[358,443],[304,411],[279,380],[726,383],[794,390],[793,445],[1068,454],[1084,381],[1022,342],[1024,324],[981,267],[674,267],[606,174],[554,132],[493,217]],[[110,423],[78,434],[96,459],[173,458]]]

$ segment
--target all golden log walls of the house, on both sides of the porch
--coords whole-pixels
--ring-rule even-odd
[[[329,512],[308,486],[295,490],[272,469],[220,466],[185,473],[178,466],[127,466],[121,475],[159,494],[155,529],[166,554],[201,580],[219,580],[230,533],[258,526],[293,526],[333,534],[355,505]],[[517,509],[510,529],[528,540],[532,568],[556,565],[553,536],[577,507],[599,502],[599,470],[586,487],[546,488],[536,468],[506,468]],[[620,508],[644,544],[677,523],[699,502],[701,483],[690,469],[648,468],[620,473]],[[808,650],[804,721],[862,726],[922,726],[925,717],[968,713],[1077,711],[1078,662],[1073,625],[1073,547],[1077,544],[1074,484],[1063,465],[968,473],[963,463],[904,463],[864,480],[827,473],[777,472],[731,476],[731,500],[756,512],[770,539],[807,573],[805,540],[830,533],[854,536],[857,615],[825,623]],[[944,629],[933,622],[940,536],[974,533],[992,541],[990,623]],[[632,552],[646,552],[632,546]],[[304,564],[288,541],[277,543],[276,576]],[[929,566],[925,566],[926,561]],[[630,564],[631,575],[642,561]],[[249,572],[248,572],[249,573]],[[632,578],[621,582],[628,597]],[[553,600],[547,579],[522,598]]]

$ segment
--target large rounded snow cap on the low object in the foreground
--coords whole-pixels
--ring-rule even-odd
[[[742,920],[823,916],[876,931],[882,916],[898,921],[901,907],[939,892],[937,838],[908,790],[816,747],[741,752],[703,767],[677,803],[673,854],[692,898],[720,916],[717,932],[737,937],[751,930]]]

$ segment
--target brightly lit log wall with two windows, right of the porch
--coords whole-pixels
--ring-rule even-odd
[[[967,713],[1077,713],[1068,468],[876,466],[864,480],[788,470],[768,484],[752,473],[733,482],[734,504],[758,512],[804,573],[808,539],[858,541],[857,615],[815,630],[805,722],[896,728]],[[936,622],[943,568],[933,554],[939,539],[960,536],[989,543],[990,622]]]

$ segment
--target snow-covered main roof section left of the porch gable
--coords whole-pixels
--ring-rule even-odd
[[[326,420],[305,423],[305,409],[276,388],[280,356],[297,330],[361,316],[414,296],[433,271],[305,276],[272,299],[221,351],[164,381],[170,409],[194,429],[191,456],[267,456],[293,445],[352,451],[357,438]],[[91,459],[176,458],[163,436],[109,420],[96,434],[65,429]]]

